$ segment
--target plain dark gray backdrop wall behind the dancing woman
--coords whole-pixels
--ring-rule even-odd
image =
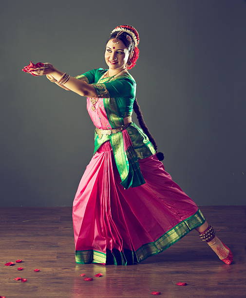
[[[72,206],[94,149],[86,97],[21,69],[107,68],[124,23],[140,35],[130,73],[166,171],[198,205],[245,205],[246,1],[5,0],[0,14],[1,206]]]

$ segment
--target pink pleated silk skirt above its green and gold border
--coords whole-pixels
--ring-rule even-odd
[[[124,189],[109,141],[92,157],[73,203],[76,250],[137,250],[198,210],[155,154],[139,164],[146,184]]]

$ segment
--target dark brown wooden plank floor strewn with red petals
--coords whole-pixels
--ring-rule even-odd
[[[165,298],[246,297],[246,206],[199,207],[232,250],[231,265],[220,261],[196,230],[137,265],[76,264],[72,207],[2,207],[0,296],[145,298],[158,291]],[[19,259],[23,262],[4,265]],[[84,281],[82,273],[93,280]],[[94,277],[97,273],[103,276]]]

